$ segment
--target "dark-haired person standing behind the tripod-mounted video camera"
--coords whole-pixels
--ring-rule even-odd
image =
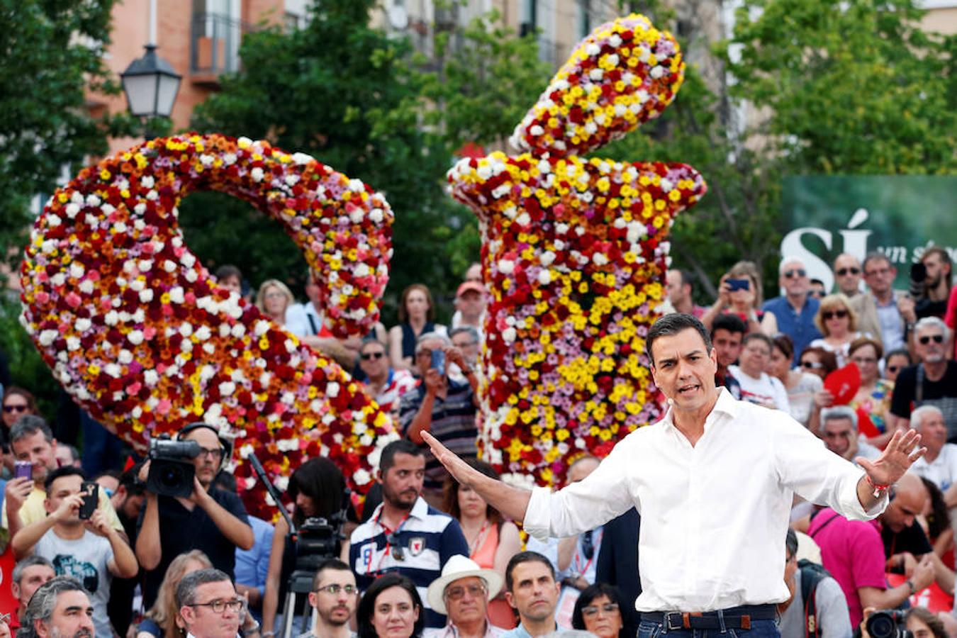
[[[308,528],[310,518],[324,518],[335,525],[333,517],[342,511],[345,499],[345,477],[329,459],[317,457],[303,463],[289,477],[289,499],[295,504],[293,524],[301,532]],[[317,558],[334,559],[340,553],[339,539],[332,539],[328,556]],[[285,606],[289,577],[296,569],[297,547],[289,534],[289,524],[284,517],[276,522],[273,533],[273,549],[269,555],[269,572],[266,576],[266,593],[262,603],[262,636],[269,638],[281,628],[276,625],[277,613]],[[297,605],[296,614],[306,609],[303,596]],[[283,619],[284,620],[284,619]],[[294,632],[296,633],[296,632]]]

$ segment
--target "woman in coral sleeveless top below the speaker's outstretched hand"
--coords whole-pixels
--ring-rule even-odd
[[[491,465],[476,459],[465,462],[480,473],[499,479]],[[508,561],[522,550],[519,528],[504,520],[497,509],[485,502],[472,488],[459,485],[449,476],[445,479],[445,500],[442,508],[456,517],[465,540],[469,543],[469,558],[483,569],[494,569],[505,577]],[[505,602],[504,592],[488,604],[488,617],[495,627],[511,629],[516,626],[515,612]]]

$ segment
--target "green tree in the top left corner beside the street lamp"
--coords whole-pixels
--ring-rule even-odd
[[[30,202],[106,150],[89,91],[118,90],[103,64],[114,0],[0,0],[0,247],[22,245]],[[5,252],[5,256],[6,252]]]

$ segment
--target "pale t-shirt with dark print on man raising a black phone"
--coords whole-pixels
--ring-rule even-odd
[[[54,564],[57,576],[73,576],[88,592],[93,604],[93,625],[98,636],[112,636],[113,627],[106,614],[113,575],[107,568],[113,560],[110,541],[85,531],[79,539],[61,539],[54,530],[44,534],[33,546],[33,553]]]

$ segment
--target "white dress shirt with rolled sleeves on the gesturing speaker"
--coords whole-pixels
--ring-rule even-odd
[[[787,412],[736,401],[721,388],[692,447],[672,421],[620,441],[598,469],[560,492],[535,488],[525,530],[539,538],[593,529],[635,507],[641,514],[638,611],[713,611],[780,603],[792,495],[849,518],[865,512],[863,472],[828,451]]]

